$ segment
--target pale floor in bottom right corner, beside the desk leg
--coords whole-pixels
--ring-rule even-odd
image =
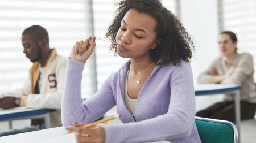
[[[256,120],[248,120],[241,122],[241,142],[256,142]]]

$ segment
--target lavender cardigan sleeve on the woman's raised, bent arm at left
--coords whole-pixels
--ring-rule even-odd
[[[64,96],[61,104],[61,119],[65,127],[74,121],[91,123],[115,106],[111,76],[92,97],[83,102],[81,97],[82,71],[85,63],[68,59]],[[84,85],[86,86],[86,85]]]

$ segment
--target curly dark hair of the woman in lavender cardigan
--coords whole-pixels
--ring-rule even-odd
[[[162,60],[163,64],[179,64],[180,60],[191,62],[194,49],[191,37],[186,32],[179,19],[171,11],[163,7],[159,0],[122,0],[116,3],[119,8],[115,11],[115,18],[108,28],[106,38],[110,38],[110,50],[117,54],[115,37],[121,27],[121,21],[131,8],[148,14],[156,20],[156,48],[151,49],[153,62]]]

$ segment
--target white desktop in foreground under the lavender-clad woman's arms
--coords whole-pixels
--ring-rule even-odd
[[[5,142],[5,143],[47,142],[49,140],[53,140],[54,138],[60,138],[61,136],[64,136],[64,135],[67,135],[67,130],[65,130],[64,127],[57,127],[57,128],[43,129],[40,131],[34,131],[34,132],[28,132],[28,133],[20,133],[17,135],[3,136],[3,137],[0,137],[0,142]],[[61,142],[61,143],[64,143],[64,142]],[[158,143],[166,143],[166,142],[168,141],[158,141]],[[56,143],[59,143],[59,142],[56,141]],[[69,143],[75,143],[75,138]]]

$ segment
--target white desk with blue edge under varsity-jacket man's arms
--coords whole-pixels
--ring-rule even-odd
[[[51,127],[49,114],[54,109],[27,109],[26,107],[16,107],[13,109],[0,109],[0,121],[9,121],[9,129],[13,128],[12,120],[39,119],[43,118],[46,128]]]

